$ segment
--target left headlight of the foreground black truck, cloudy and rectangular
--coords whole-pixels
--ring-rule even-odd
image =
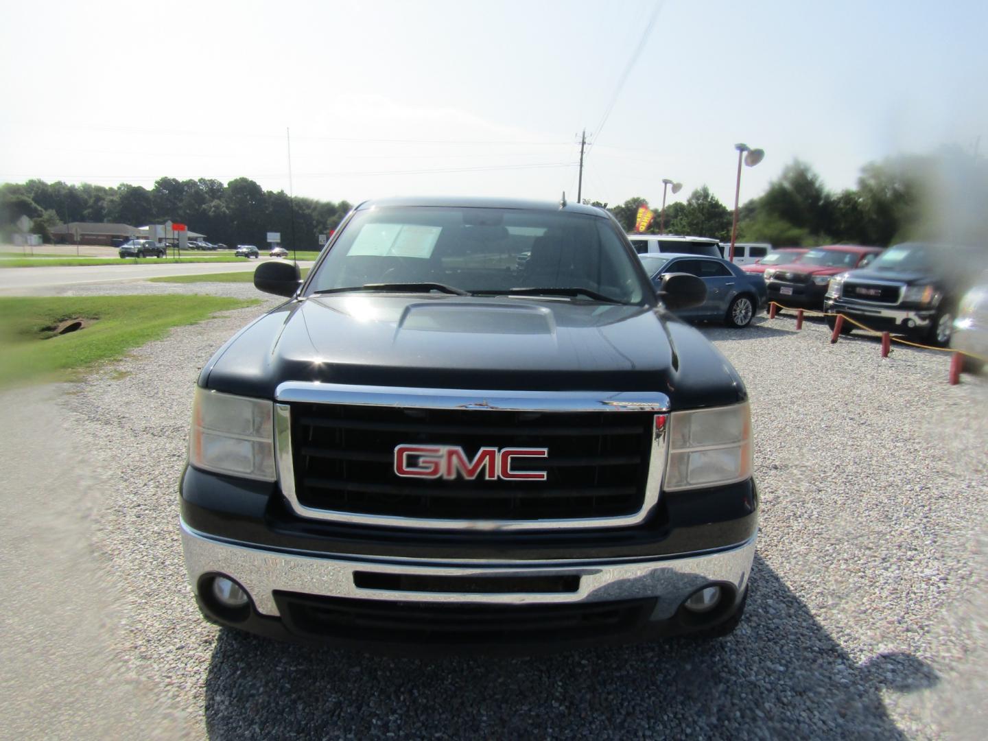
[[[231,476],[275,480],[274,404],[196,388],[189,460]]]

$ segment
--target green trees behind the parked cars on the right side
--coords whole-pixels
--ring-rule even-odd
[[[628,232],[640,197],[610,208]],[[856,188],[830,191],[805,162],[793,160],[761,196],[738,210],[738,241],[777,247],[862,244],[887,247],[909,239],[983,244],[988,234],[988,164],[984,158],[944,149],[933,155],[870,162]],[[666,205],[665,233],[730,241],[733,212],[704,185],[685,202]],[[646,230],[657,234],[660,213]]]

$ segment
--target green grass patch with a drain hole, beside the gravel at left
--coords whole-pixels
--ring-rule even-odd
[[[0,298],[0,386],[106,372],[100,368],[172,327],[257,302],[205,295]],[[77,317],[89,326],[60,336],[44,331]]]

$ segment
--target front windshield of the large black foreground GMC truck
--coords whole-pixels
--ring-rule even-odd
[[[319,266],[309,292],[373,289],[373,284],[392,285],[381,290],[439,286],[467,293],[529,289],[530,295],[537,294],[535,288],[546,293],[584,288],[620,303],[639,303],[646,294],[610,221],[510,208],[358,211]]]

